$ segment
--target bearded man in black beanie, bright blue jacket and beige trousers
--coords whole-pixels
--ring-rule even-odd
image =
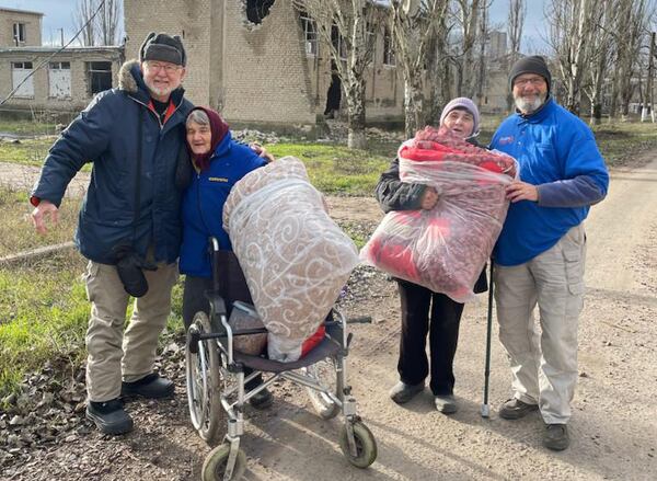
[[[543,57],[518,60],[509,83],[516,113],[491,142],[520,168],[507,187],[511,204],[493,252],[499,340],[514,376],[514,397],[499,416],[517,420],[540,411],[543,445],[562,450],[570,443],[567,423],[577,382],[583,222],[607,195],[609,173],[588,126],[550,96],[552,76]]]

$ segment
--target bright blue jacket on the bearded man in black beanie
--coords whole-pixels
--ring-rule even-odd
[[[538,186],[539,201],[509,206],[494,251],[500,265],[518,265],[545,252],[604,198],[609,173],[593,134],[552,99],[531,115],[506,118],[491,142],[515,157],[520,180]]]

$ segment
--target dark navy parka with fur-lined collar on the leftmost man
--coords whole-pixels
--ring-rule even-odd
[[[149,108],[150,95],[139,64],[127,62],[120,69],[118,89],[97,94],[50,148],[32,196],[56,206],[76,173],[85,162],[93,162],[76,232],[76,243],[85,257],[115,264],[117,245],[130,244],[146,255],[152,243],[157,262],[177,259],[182,227],[175,167],[185,141],[185,119],[193,107],[183,93],[180,88],[171,94],[175,110],[162,125]],[[135,236],[139,150],[140,213]]]

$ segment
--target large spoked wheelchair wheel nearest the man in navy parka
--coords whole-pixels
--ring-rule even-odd
[[[189,332],[211,331],[210,321],[205,312],[197,312],[189,327]],[[189,337],[189,333],[187,334]],[[196,352],[193,352],[196,351]],[[209,445],[216,444],[222,435],[219,428],[223,423],[221,405],[221,369],[219,353],[214,340],[200,341],[197,346],[186,350],[187,402],[192,424],[199,436]]]

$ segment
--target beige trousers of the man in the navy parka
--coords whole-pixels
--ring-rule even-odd
[[[87,296],[91,318],[87,330],[87,394],[104,402],[120,396],[120,382],[136,381],[153,371],[158,337],[171,311],[171,289],[177,280],[177,264],[158,264],[145,271],[146,296],[135,299],[132,316],[124,333],[129,296],[116,267],[90,261]],[[123,377],[122,377],[123,374]]]

